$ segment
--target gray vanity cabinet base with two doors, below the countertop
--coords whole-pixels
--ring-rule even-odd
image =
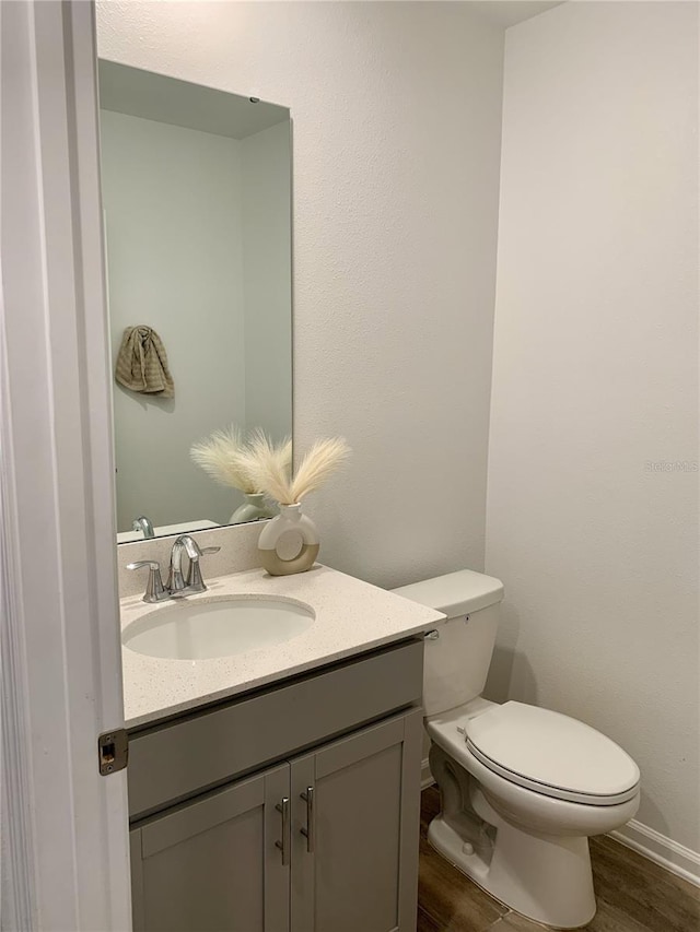
[[[135,932],[413,932],[421,685],[413,640],[131,735]]]

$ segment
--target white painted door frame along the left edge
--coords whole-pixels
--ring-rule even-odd
[[[0,4],[2,929],[130,930],[94,3]]]

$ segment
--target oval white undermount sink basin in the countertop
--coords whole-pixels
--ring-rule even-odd
[[[282,597],[178,602],[127,625],[121,642],[149,657],[207,660],[283,644],[310,628],[315,617],[311,605]]]

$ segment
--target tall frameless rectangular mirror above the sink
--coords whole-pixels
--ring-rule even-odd
[[[117,540],[247,520],[189,449],[292,433],[289,110],[104,60],[100,107]]]

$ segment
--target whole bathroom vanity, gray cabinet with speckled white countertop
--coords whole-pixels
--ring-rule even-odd
[[[315,620],[226,658],[124,649],[135,930],[409,932],[422,641],[442,616],[326,567],[188,601],[224,590],[303,599]],[[122,633],[158,611],[124,600]]]

